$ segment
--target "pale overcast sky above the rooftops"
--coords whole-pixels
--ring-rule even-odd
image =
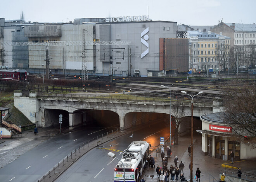
[[[225,23],[256,23],[256,0],[1,0],[0,5],[0,18],[20,19],[23,11],[26,22],[149,13],[153,21],[186,25],[213,26],[221,19]]]

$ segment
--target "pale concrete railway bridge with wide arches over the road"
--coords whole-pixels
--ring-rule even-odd
[[[170,108],[171,103],[171,108]],[[196,102],[194,116],[219,112],[222,101]],[[40,127],[58,126],[62,114],[62,126],[96,123],[100,126],[116,126],[127,129],[138,124],[163,120],[168,123],[175,105],[183,106],[183,117],[191,116],[191,100],[173,101],[169,98],[136,97],[115,93],[55,94],[30,91],[23,96],[21,90],[14,91],[14,105],[31,122]]]

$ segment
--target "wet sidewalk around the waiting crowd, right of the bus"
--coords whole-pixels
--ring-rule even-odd
[[[190,157],[189,157],[189,153],[187,152],[187,148],[190,145],[190,136],[179,137],[178,141],[179,141],[179,145],[171,146],[172,155],[171,155],[171,158],[168,158],[168,169],[170,168],[170,165],[175,166],[173,160],[175,156],[178,156],[179,162],[182,161],[182,163],[184,163],[185,165],[185,168],[183,169],[184,176],[187,180],[190,180],[190,170],[189,170]],[[164,153],[166,155],[166,146],[164,148]],[[201,150],[201,134],[194,135],[193,154],[194,154],[193,155],[193,176],[195,175],[195,171],[197,170],[197,167],[199,167],[199,170],[201,170],[201,178],[200,178],[201,182],[206,182],[206,181],[209,182],[209,179],[210,179],[209,174],[211,174],[216,180],[220,180],[219,174],[225,172],[225,167],[221,167],[221,164],[223,164],[224,161],[221,159],[213,158],[211,156],[204,156]],[[156,167],[157,165],[162,167],[162,160],[161,160],[160,153],[154,152],[154,153],[151,153],[151,155],[154,156],[155,158]],[[231,165],[231,163],[227,164],[229,162],[230,161],[227,160],[226,165]],[[179,166],[179,163],[177,167],[178,166]],[[232,166],[241,168],[242,173],[245,175],[251,175],[256,177],[256,159],[241,160],[240,162],[234,162]],[[157,181],[156,167],[155,168],[147,167],[145,169],[145,172],[143,173],[142,177],[144,177],[144,180],[146,182]],[[224,170],[224,171],[221,171],[221,170]],[[231,172],[233,172],[234,175],[236,175],[237,169],[226,167],[226,170],[230,171],[230,172],[226,172],[227,175],[231,175],[232,174]],[[211,180],[213,180],[212,177],[211,177]],[[169,178],[169,181],[171,181],[170,178]]]

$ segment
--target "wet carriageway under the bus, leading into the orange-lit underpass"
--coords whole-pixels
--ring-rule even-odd
[[[156,148],[160,143],[160,136],[168,137],[168,128],[162,127],[160,123],[149,125],[133,132],[133,138],[129,138],[132,133],[127,133],[119,138],[104,143],[104,148],[125,150],[132,141],[147,141],[151,144],[151,149]],[[111,147],[112,145],[113,147]],[[110,182],[114,179],[114,167],[118,160],[107,156],[109,150],[94,148],[71,167],[62,173],[54,182]],[[116,157],[121,159],[120,153],[111,151]]]

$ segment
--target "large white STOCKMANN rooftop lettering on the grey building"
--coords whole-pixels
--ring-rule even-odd
[[[106,22],[143,22],[149,21],[149,16],[123,16],[123,17],[106,17]]]

